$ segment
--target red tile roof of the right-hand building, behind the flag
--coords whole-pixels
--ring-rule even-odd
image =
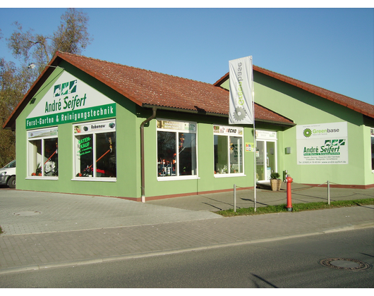
[[[275,73],[270,70],[266,70],[264,68],[260,68],[258,66],[253,65],[253,71],[257,71],[259,73],[263,73],[267,76],[270,76],[272,78],[275,78],[277,80],[284,81],[290,85],[294,85],[296,87],[300,87],[303,90],[306,90],[307,92],[311,92],[312,94],[316,94],[319,97],[328,99],[330,101],[334,101],[337,104],[340,104],[342,106],[346,106],[349,109],[352,109],[358,113],[362,113],[363,115],[366,115],[368,117],[374,118],[374,105],[365,103],[364,101],[358,101],[357,99],[353,99],[351,97],[346,97],[343,94],[338,94],[337,92],[332,92],[330,90],[325,90],[322,87],[316,87],[315,85],[310,85],[309,83],[296,80],[294,78],[290,78],[286,75],[282,75],[279,73]],[[217,82],[215,82],[213,85],[219,86],[222,84],[222,82],[229,79],[229,73],[222,76]]]

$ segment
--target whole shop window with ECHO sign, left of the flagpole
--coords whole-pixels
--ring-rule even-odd
[[[215,176],[243,173],[243,128],[215,125]]]

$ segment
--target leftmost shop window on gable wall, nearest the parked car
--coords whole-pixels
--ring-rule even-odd
[[[57,128],[28,131],[28,176],[59,175],[58,142]]]

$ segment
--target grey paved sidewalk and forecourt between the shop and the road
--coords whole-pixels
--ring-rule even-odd
[[[327,200],[322,187],[293,187],[293,203]],[[330,199],[373,198],[374,189],[330,190]],[[257,206],[286,203],[286,192],[256,190]],[[319,200],[320,199],[320,200]],[[374,206],[223,218],[232,192],[132,202],[0,188],[0,273],[76,266],[222,245],[374,226]],[[253,190],[236,192],[253,206]]]

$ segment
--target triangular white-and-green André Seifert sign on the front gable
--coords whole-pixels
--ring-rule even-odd
[[[64,72],[26,118],[26,129],[116,116],[116,103]]]

